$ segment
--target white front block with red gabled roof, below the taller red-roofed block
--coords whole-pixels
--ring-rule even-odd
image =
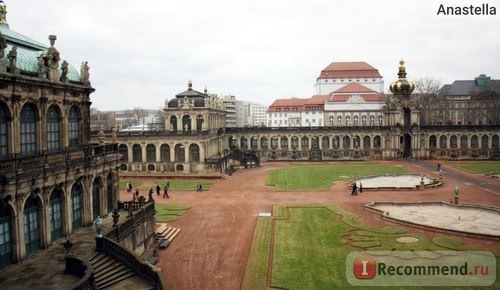
[[[327,126],[382,126],[384,95],[358,83],[332,92],[325,102]]]

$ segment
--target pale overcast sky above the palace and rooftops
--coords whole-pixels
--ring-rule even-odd
[[[500,16],[437,16],[500,0],[4,0],[10,29],[90,65],[92,106],[156,109],[187,88],[264,105],[310,97],[332,61],[397,78],[500,78]]]

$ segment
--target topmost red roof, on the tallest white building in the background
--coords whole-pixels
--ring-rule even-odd
[[[381,78],[378,70],[364,61],[332,62],[324,68],[318,79],[330,78]]]

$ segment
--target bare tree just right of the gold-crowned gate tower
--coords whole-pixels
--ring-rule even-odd
[[[432,124],[432,111],[435,110],[436,98],[441,89],[441,80],[434,77],[420,78],[415,81],[415,93],[418,95],[418,103],[420,107],[421,118],[423,125]]]

